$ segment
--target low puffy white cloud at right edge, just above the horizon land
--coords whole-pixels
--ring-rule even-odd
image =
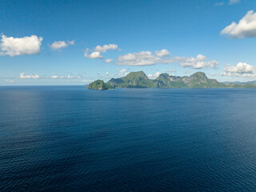
[[[255,77],[255,67],[250,66],[246,62],[238,62],[236,66],[227,66],[224,68],[224,72],[221,75],[244,78]]]

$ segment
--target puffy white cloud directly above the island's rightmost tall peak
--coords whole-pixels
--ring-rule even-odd
[[[214,68],[218,64],[219,62],[215,60],[209,61],[206,56],[198,54],[196,58],[183,58],[179,65],[184,67],[191,67],[193,69],[202,69],[205,67]]]

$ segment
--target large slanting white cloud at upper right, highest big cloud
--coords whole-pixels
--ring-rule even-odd
[[[232,22],[230,26],[226,26],[221,34],[227,34],[230,38],[256,37],[256,13],[248,11],[238,23]]]

